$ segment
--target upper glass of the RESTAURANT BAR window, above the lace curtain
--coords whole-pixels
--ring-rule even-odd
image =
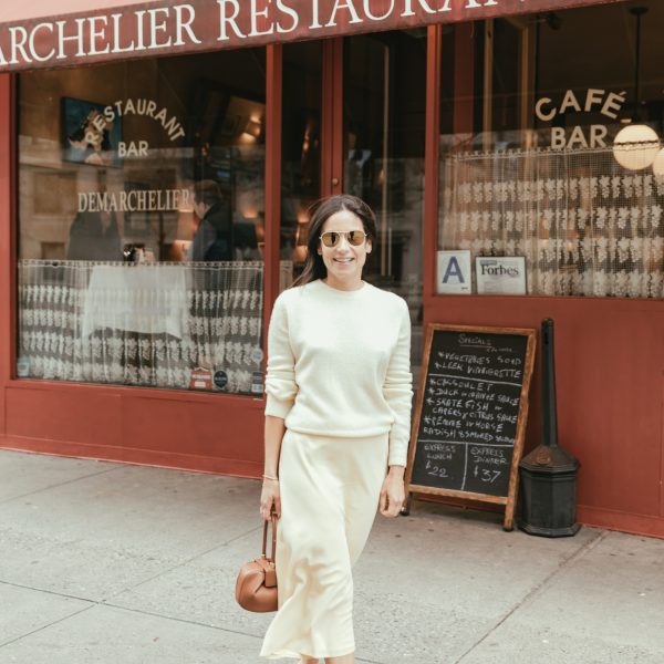
[[[229,217],[218,238],[228,246],[214,256],[261,258],[262,50],[20,81],[21,258],[121,261],[128,245],[156,261],[189,260],[200,183],[216,185]]]

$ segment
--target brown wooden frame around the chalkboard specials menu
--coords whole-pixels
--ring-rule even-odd
[[[432,342],[436,331],[448,332],[470,332],[485,334],[506,334],[521,335],[528,339],[526,346],[526,359],[523,364],[523,382],[521,386],[521,397],[519,400],[519,413],[517,418],[517,434],[515,437],[515,446],[512,452],[511,468],[509,475],[509,485],[507,496],[491,496],[488,494],[475,494],[469,491],[460,491],[456,489],[444,489],[438,487],[428,487],[425,485],[412,485],[413,469],[415,464],[415,453],[417,452],[417,434],[419,433],[419,423],[422,418],[422,405],[424,393],[426,390],[429,359],[432,352]],[[422,375],[419,378],[419,391],[415,403],[415,413],[413,417],[413,428],[411,433],[411,448],[408,452],[408,466],[406,468],[406,490],[408,494],[426,494],[433,496],[447,496],[452,498],[461,498],[474,500],[477,502],[488,502],[492,505],[505,505],[505,519],[502,527],[505,530],[512,530],[515,508],[518,492],[518,470],[521,454],[523,452],[523,440],[526,437],[526,423],[528,421],[529,393],[530,382],[532,380],[532,371],[535,369],[535,350],[536,350],[536,331],[525,328],[492,328],[492,326],[475,326],[475,325],[453,325],[442,323],[429,323],[426,330],[426,339],[424,343],[424,357],[422,363]]]

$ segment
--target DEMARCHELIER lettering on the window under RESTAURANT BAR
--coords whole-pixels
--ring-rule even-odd
[[[152,212],[189,207],[189,189],[79,191],[80,212]]]

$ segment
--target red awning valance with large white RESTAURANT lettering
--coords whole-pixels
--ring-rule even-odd
[[[558,0],[560,1],[560,0]],[[1,25],[0,70],[550,9],[556,0],[191,0]],[[142,6],[139,6],[142,7]]]

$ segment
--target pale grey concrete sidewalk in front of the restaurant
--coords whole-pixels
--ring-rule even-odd
[[[259,483],[0,450],[0,663],[257,664]],[[357,661],[664,663],[664,541],[416,502],[355,570]],[[292,662],[292,660],[291,660]]]

